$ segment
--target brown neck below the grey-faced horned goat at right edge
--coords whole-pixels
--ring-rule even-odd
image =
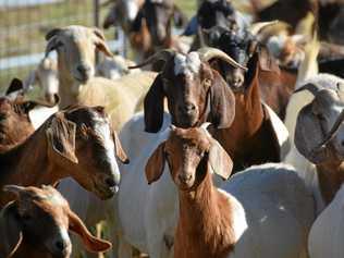
[[[317,164],[319,187],[321,196],[328,206],[344,182],[344,163],[341,161],[328,161]]]

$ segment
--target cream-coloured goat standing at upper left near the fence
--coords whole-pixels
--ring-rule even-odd
[[[140,72],[118,81],[95,77],[95,48],[112,57],[97,28],[67,26],[50,30],[46,53],[58,51],[61,105],[102,105],[119,130],[134,113],[136,101],[148,90],[156,73]]]

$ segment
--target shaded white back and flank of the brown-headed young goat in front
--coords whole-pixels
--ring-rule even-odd
[[[292,167],[255,165],[221,188],[237,199],[247,221],[229,258],[307,258],[314,200]]]

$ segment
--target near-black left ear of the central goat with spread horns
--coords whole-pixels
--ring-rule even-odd
[[[163,98],[161,74],[158,74],[144,100],[145,131],[148,133],[157,133],[162,126]]]

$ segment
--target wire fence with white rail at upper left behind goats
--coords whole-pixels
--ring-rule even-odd
[[[96,26],[107,11],[99,0],[0,0],[0,91],[14,76],[25,78],[39,62],[49,29]],[[110,32],[107,38],[113,35]],[[121,40],[110,41],[111,48],[123,48]]]

